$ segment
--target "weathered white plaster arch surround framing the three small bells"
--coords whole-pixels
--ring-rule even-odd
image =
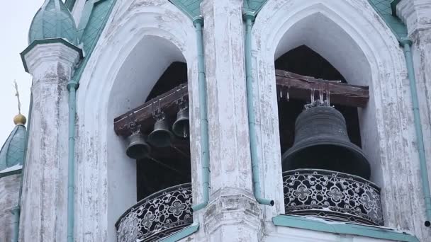
[[[113,118],[144,103],[172,62],[187,62],[192,183],[201,200],[196,60],[193,24],[169,1],[117,1],[77,93],[78,241],[115,241],[115,222],[137,202],[135,161]]]

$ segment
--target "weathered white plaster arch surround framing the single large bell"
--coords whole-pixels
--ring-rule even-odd
[[[360,9],[360,11],[358,11]],[[423,238],[425,209],[415,146],[413,113],[403,52],[396,38],[365,0],[269,0],[253,30],[255,105],[264,196],[276,200],[265,207],[270,219],[284,212],[282,152],[274,79],[274,59],[307,45],[337,68],[349,83],[369,85],[367,108],[359,110],[363,149],[372,177],[382,188],[386,225]]]

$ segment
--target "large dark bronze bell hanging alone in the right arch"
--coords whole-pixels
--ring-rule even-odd
[[[295,122],[295,142],[282,157],[283,170],[315,168],[369,179],[371,169],[362,150],[350,142],[345,118],[335,108],[318,105]]]

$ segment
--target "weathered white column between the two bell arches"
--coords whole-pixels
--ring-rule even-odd
[[[259,241],[262,230],[252,190],[242,4],[201,4],[211,162],[208,241]]]

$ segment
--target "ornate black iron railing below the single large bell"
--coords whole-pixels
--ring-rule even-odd
[[[380,188],[336,171],[298,169],[283,173],[286,214],[384,225]]]

